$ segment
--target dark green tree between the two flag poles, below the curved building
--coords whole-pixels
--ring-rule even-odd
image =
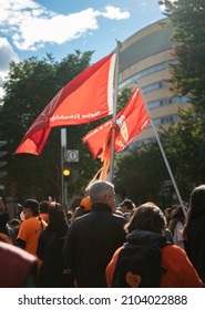
[[[116,192],[132,198],[136,205],[154,202],[163,207],[171,204],[172,195],[167,197],[163,188],[165,179],[170,177],[157,144],[117,156]]]

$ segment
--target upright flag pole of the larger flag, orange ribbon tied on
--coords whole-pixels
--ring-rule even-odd
[[[114,124],[116,123],[116,104],[117,104],[117,94],[119,94],[119,58],[120,58],[120,48],[121,42],[116,41],[116,60],[115,60],[115,84],[114,84],[114,99],[113,99],[113,126],[111,128],[111,163],[110,163],[110,172],[109,178],[110,182],[113,182],[113,173],[114,173],[114,154],[115,154],[115,133],[116,128]]]

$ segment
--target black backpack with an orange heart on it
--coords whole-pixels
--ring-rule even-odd
[[[126,242],[119,255],[112,287],[158,288],[165,272],[162,267],[162,248],[166,245],[163,237],[154,241]]]

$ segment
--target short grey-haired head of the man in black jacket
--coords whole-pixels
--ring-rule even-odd
[[[91,198],[91,203],[102,203],[106,204],[111,207],[111,209],[114,209],[115,205],[115,192],[114,192],[114,185],[106,180],[96,180],[94,182],[90,189],[89,195]]]

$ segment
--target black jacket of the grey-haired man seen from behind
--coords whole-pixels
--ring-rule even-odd
[[[65,238],[63,257],[78,287],[106,287],[105,268],[125,241],[125,223],[105,204],[94,204],[89,214],[73,221]]]

